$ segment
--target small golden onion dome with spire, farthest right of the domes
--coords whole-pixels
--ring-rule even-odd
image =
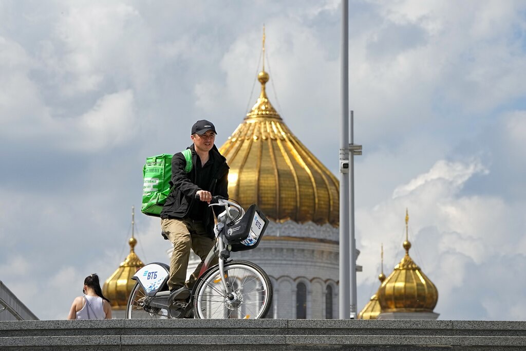
[[[406,255],[378,290],[382,313],[433,312],[438,302],[437,287],[409,256],[411,243],[407,236],[408,221],[406,211],[406,240],[403,242]]]

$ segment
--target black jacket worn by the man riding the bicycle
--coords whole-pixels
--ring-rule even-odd
[[[203,190],[195,184],[197,179],[197,169],[195,165],[197,157],[199,156],[195,152],[194,145],[187,148],[192,152],[192,163],[194,166],[189,173],[185,172],[186,159],[183,153],[177,153],[171,159],[170,187],[175,186],[166,198],[163,210],[160,213],[161,218],[186,218],[190,212],[190,206],[194,202],[199,201],[195,199],[197,191]],[[207,190],[212,193],[213,196],[220,195],[228,198],[229,167],[226,158],[219,153],[215,145],[210,150],[210,159],[208,162],[210,161],[213,162],[213,170],[211,173],[212,179]],[[217,206],[215,206],[214,209],[216,210],[216,214],[219,214],[223,210]],[[201,220],[203,220],[205,224],[208,235],[211,238],[214,238],[214,215],[212,214],[210,207],[206,208],[206,211],[203,214],[203,219]]]

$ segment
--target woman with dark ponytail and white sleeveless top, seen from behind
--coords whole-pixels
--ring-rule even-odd
[[[67,319],[110,319],[112,306],[102,294],[97,274],[91,274],[84,279],[84,296],[73,300]]]

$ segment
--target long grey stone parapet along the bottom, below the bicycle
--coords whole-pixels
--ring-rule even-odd
[[[525,350],[526,322],[108,319],[0,322],[0,348],[74,350]]]

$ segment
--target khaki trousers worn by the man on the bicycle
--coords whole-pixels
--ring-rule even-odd
[[[208,237],[205,226],[200,220],[192,219],[161,219],[161,229],[172,244],[174,252],[170,258],[170,277],[168,288],[170,290],[186,286],[189,289],[194,287],[203,262],[214,247],[215,239]],[[194,273],[186,280],[186,270],[190,258],[190,248],[201,258]],[[217,257],[214,258],[212,265],[217,264]]]

